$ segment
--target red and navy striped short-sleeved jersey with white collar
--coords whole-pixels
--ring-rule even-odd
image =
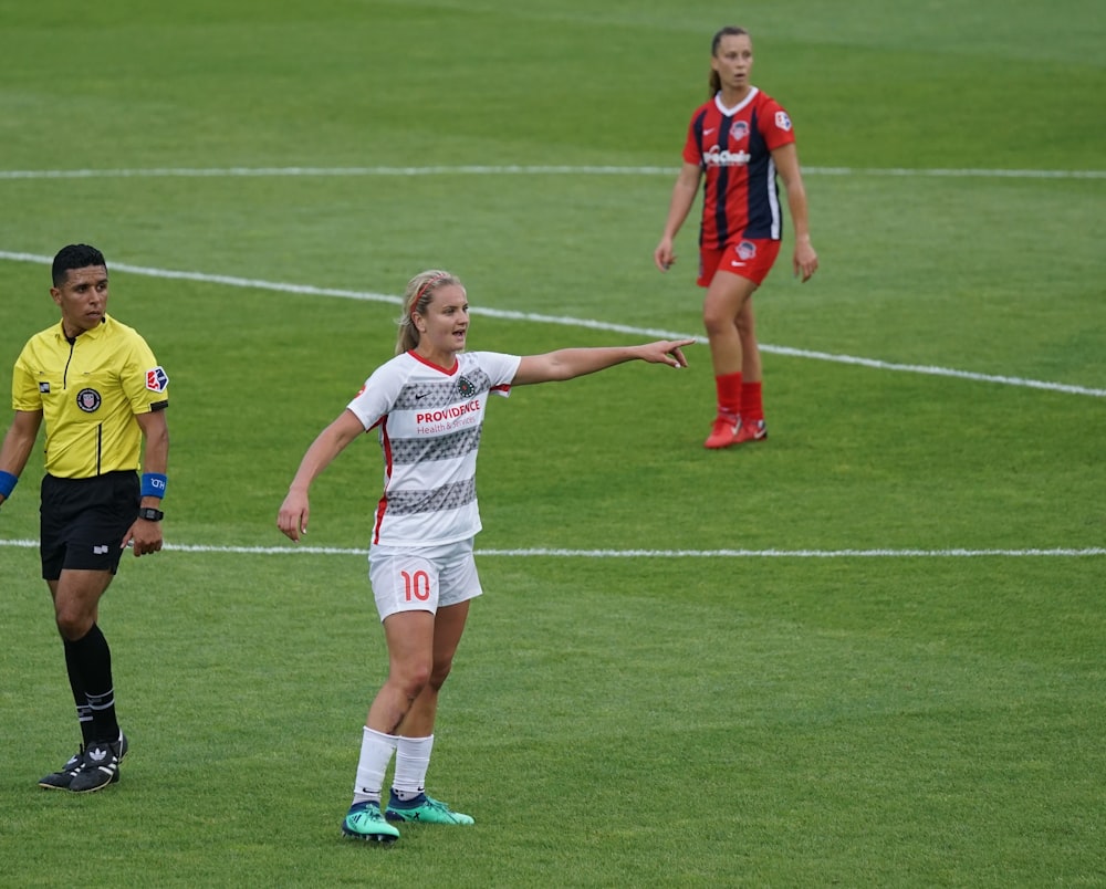
[[[794,140],[787,113],[755,86],[735,108],[723,107],[716,96],[696,109],[684,159],[706,174],[700,244],[717,249],[741,238],[780,240],[783,210],[771,153]]]

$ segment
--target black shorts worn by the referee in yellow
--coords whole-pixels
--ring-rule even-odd
[[[56,581],[64,568],[115,574],[119,544],[138,517],[137,472],[107,472],[91,479],[42,479],[39,554],[42,578]]]

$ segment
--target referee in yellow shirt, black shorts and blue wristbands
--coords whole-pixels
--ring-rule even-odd
[[[119,780],[127,752],[98,606],[127,546],[136,556],[161,548],[169,378],[146,341],[107,314],[107,262],[96,248],[58,252],[50,295],[61,323],[27,342],[12,374],[15,417],[0,447],[0,505],[44,420],[39,550],[82,743],[39,786],[87,793]]]

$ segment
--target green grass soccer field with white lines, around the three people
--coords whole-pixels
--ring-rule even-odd
[[[0,0],[0,390],[86,241],[173,400],[169,548],[102,607],[105,793],[35,786],[77,740],[38,454],[0,511],[0,885],[1106,885],[1106,20],[730,14]],[[319,480],[311,548],[286,484],[424,268],[473,348],[700,334],[696,218],[670,274],[651,251],[727,23],[822,263],[800,285],[785,241],[757,297],[772,438],[702,449],[705,345],[497,400],[428,781],[477,824],[344,841],[378,449]]]

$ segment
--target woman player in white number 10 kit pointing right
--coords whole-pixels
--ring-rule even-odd
[[[335,457],[376,428],[385,484],[369,547],[369,579],[388,647],[388,677],[368,710],[346,836],[390,843],[392,823],[472,824],[427,796],[438,694],[469,613],[481,594],[472,557],[480,531],[477,449],[488,398],[511,386],[572,379],[633,359],[686,367],[693,339],[639,346],[566,348],[545,355],[465,352],[469,303],[444,271],[410,280],[396,357],[378,367],[342,415],[307,449],[276,524],[299,541],[307,529],[307,490]],[[387,807],[385,772],[396,756]]]

